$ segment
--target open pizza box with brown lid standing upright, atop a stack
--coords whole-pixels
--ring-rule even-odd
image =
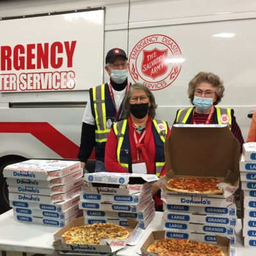
[[[216,177],[223,195],[204,195],[228,198],[239,185],[240,144],[225,125],[173,125],[164,143],[165,179],[159,186],[165,194],[204,195],[169,191],[164,184],[174,177]]]

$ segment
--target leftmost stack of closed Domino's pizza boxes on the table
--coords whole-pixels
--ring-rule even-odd
[[[15,220],[63,227],[81,216],[80,162],[31,159],[6,166],[3,174]]]

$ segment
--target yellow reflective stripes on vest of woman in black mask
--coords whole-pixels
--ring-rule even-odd
[[[167,136],[167,132],[168,132],[168,125],[166,122],[162,121],[162,120],[156,120],[156,119],[152,119],[152,122],[154,124],[154,127],[157,131],[157,134],[159,134],[159,137],[161,138],[161,141],[165,141],[166,136]],[[163,124],[164,125],[164,130],[159,129],[159,124]],[[125,130],[127,127],[127,119],[122,120],[120,122],[117,122],[113,125],[113,129],[117,138],[117,150],[116,150],[116,155],[117,155],[117,161],[118,163],[123,166],[126,170],[129,170],[129,164],[128,163],[121,163],[120,161],[120,152],[121,152],[121,148],[122,148],[122,143],[124,141],[124,134],[125,134]],[[157,177],[159,177],[159,175],[161,174],[163,167],[164,167],[165,162],[156,162],[156,175]]]

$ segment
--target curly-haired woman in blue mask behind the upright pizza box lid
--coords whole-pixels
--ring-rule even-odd
[[[198,73],[188,84],[188,97],[193,107],[179,109],[175,124],[226,124],[241,144],[243,136],[233,109],[219,108],[225,88],[220,77],[211,72]]]

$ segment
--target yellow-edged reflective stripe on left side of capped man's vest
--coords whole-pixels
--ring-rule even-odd
[[[95,141],[106,142],[110,129],[106,129],[105,84],[92,88],[95,111]]]

